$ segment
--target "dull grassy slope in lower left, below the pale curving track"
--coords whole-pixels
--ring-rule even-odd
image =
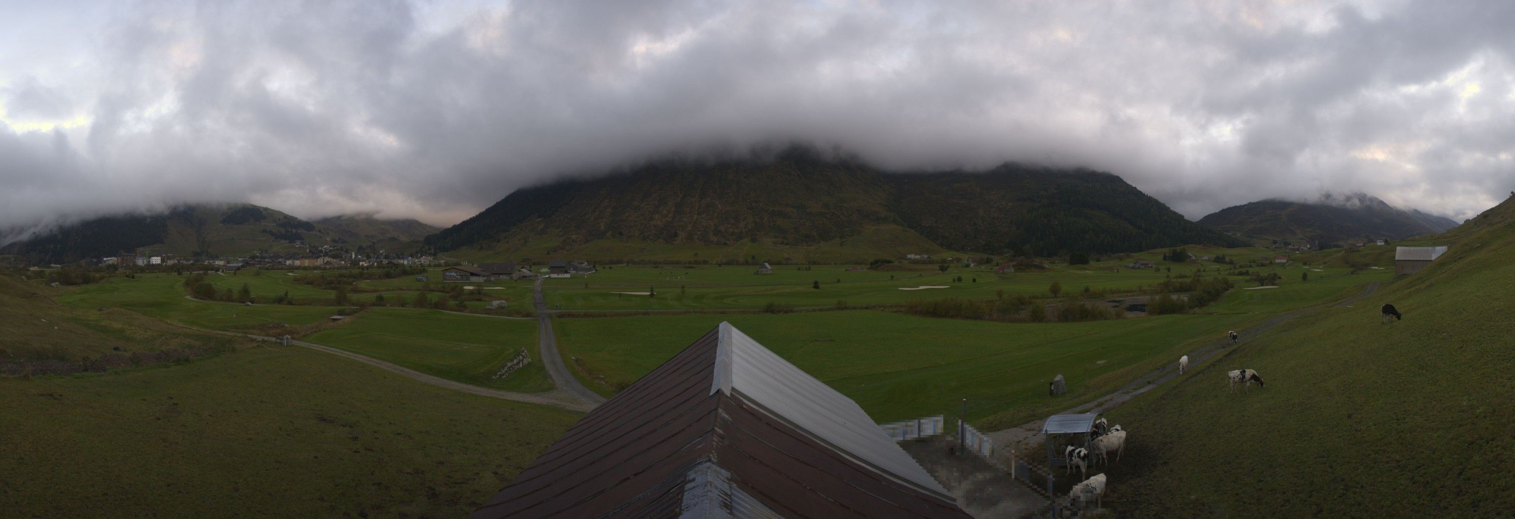
[[[0,378],[0,409],[15,517],[456,517],[582,416],[280,347]]]

